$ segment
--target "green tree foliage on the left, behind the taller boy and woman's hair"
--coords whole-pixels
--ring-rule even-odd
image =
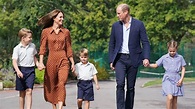
[[[77,10],[68,0],[0,0],[0,60],[10,64],[13,47],[19,42],[17,33],[21,28],[31,29],[33,42],[39,46],[41,27],[37,26],[37,21],[56,8],[63,10],[66,17],[69,17],[69,12]]]

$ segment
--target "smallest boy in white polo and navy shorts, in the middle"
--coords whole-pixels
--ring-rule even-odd
[[[79,53],[80,62],[76,64],[74,75],[77,76],[78,92],[77,105],[82,109],[82,102],[85,103],[85,109],[89,109],[90,101],[94,101],[94,91],[92,79],[95,81],[96,89],[99,90],[99,84],[96,74],[98,73],[95,66],[88,62],[88,50],[82,49]]]

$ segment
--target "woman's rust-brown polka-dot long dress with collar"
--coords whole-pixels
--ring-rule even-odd
[[[65,84],[70,69],[68,58],[73,56],[69,30],[61,28],[56,34],[52,27],[43,29],[39,55],[46,55],[47,51],[49,55],[44,75],[44,97],[52,104],[62,101],[65,106]]]

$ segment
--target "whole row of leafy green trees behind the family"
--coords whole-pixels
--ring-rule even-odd
[[[39,47],[38,19],[53,9],[65,13],[64,26],[71,32],[73,50],[87,47],[107,53],[111,25],[117,21],[116,6],[130,5],[131,15],[144,22],[149,40],[191,41],[195,35],[194,0],[0,0],[0,59],[10,59],[19,29],[33,31]]]

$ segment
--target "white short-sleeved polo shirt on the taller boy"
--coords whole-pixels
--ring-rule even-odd
[[[14,47],[12,59],[17,60],[18,66],[33,67],[35,66],[34,56],[37,54],[35,44],[29,43],[27,46],[23,46],[19,43]]]

